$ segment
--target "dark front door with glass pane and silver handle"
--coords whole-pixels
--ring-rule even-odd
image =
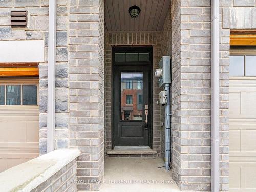
[[[134,54],[133,57],[139,57],[139,52],[126,52],[125,54],[125,63],[119,62],[114,65],[112,90],[114,94],[112,105],[114,107],[114,145],[148,146],[150,145],[152,114],[150,99],[152,66],[140,63],[139,58],[137,62],[126,62],[127,56]],[[142,56],[146,57],[145,54],[141,54]],[[150,56],[147,56],[150,61]]]

